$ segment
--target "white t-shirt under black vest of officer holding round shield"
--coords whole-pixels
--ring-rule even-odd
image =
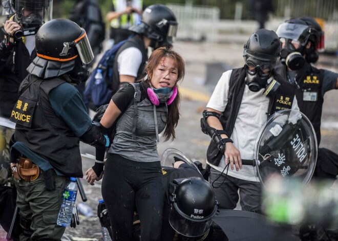
[[[232,70],[223,73],[219,79],[213,95],[211,96],[207,108],[213,108],[216,111],[223,112],[228,101],[229,79]],[[240,151],[241,159],[254,159],[254,148],[256,138],[265,121],[267,120],[267,110],[269,105],[269,98],[263,96],[264,89],[259,92],[252,92],[248,85],[245,85],[244,94],[241,102],[241,107],[235,121],[235,127],[231,140],[234,141],[234,146]],[[299,111],[296,98],[293,99],[291,109]],[[219,164],[214,166],[208,163],[218,171],[223,171],[225,167],[225,157]],[[226,172],[226,170],[224,171]],[[254,167],[242,165],[242,169],[236,171],[229,167],[228,175],[242,180],[259,182],[256,179]]]

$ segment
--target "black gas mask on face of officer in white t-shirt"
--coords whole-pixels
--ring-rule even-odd
[[[245,61],[246,78],[245,83],[249,90],[258,92],[265,89],[265,96],[270,96],[277,91],[280,83],[272,80],[268,83],[273,73],[274,64],[268,61],[262,61],[256,58],[248,57]]]

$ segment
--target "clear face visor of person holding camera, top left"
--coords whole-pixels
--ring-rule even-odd
[[[16,20],[24,28],[38,28],[52,19],[53,0],[15,0]]]

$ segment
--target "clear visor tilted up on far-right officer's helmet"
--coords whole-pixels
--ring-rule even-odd
[[[277,28],[277,35],[280,38],[299,41],[302,46],[306,45],[311,28],[306,25],[283,23]]]

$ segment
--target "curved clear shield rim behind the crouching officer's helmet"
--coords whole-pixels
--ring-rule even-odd
[[[175,148],[167,148],[162,155],[161,166],[174,167],[175,161],[182,161],[191,165],[200,174],[200,170],[197,168],[195,163],[188,158],[182,151]],[[201,174],[202,175],[202,174]]]

